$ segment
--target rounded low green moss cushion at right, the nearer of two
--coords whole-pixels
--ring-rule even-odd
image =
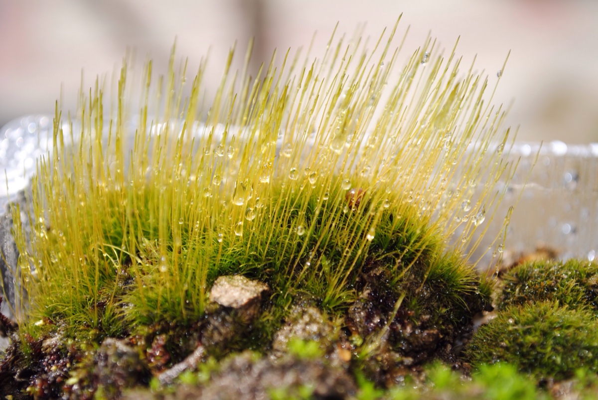
[[[474,365],[507,362],[562,380],[580,367],[598,371],[598,324],[587,310],[556,303],[509,306],[480,327],[465,353]]]

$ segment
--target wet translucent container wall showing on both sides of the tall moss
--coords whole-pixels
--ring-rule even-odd
[[[69,124],[62,128],[69,137]],[[205,132],[203,128],[194,131]],[[221,128],[216,129],[216,136]],[[0,173],[5,171],[7,181],[0,185],[2,210],[10,196],[28,185],[37,160],[51,155],[52,132],[53,118],[48,115],[23,117],[0,129]],[[477,248],[479,255],[470,259],[481,257],[478,267],[482,269],[492,263],[492,248],[496,248],[492,240],[515,203],[504,246],[509,257],[549,249],[562,259],[594,259],[598,252],[598,143],[515,143],[508,160],[518,160],[517,171]]]

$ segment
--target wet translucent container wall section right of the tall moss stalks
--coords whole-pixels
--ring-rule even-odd
[[[506,215],[518,200],[505,240],[508,256],[546,249],[560,259],[593,260],[598,252],[598,143],[516,143],[508,159],[519,165],[496,213]],[[495,218],[489,231],[496,233],[502,222]]]

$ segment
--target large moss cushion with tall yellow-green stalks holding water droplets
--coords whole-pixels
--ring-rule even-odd
[[[141,105],[125,63],[114,103],[97,80],[76,116],[57,109],[30,233],[13,210],[29,299],[17,311],[22,347],[71,343],[69,390],[97,378],[81,365],[111,354],[108,338],[126,339],[157,375],[218,341],[206,336],[210,288],[242,275],[269,288],[260,314],[206,354],[268,353],[313,309],[329,325],[321,351],[377,384],[396,366],[450,361],[490,304],[492,285],[465,250],[495,218],[514,138],[484,100],[496,77],[463,71],[430,39],[398,66],[395,29],[372,50],[357,37],[331,39],[313,62],[286,53],[258,78],[229,71],[231,51],[209,106],[205,62],[188,81],[173,51],[166,77],[147,63]],[[299,339],[294,353],[319,354],[313,337]],[[96,356],[76,356],[86,351]]]

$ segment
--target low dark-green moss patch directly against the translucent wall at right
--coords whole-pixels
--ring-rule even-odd
[[[598,311],[598,264],[587,260],[533,261],[517,265],[503,277],[501,309],[554,301],[570,309]]]

